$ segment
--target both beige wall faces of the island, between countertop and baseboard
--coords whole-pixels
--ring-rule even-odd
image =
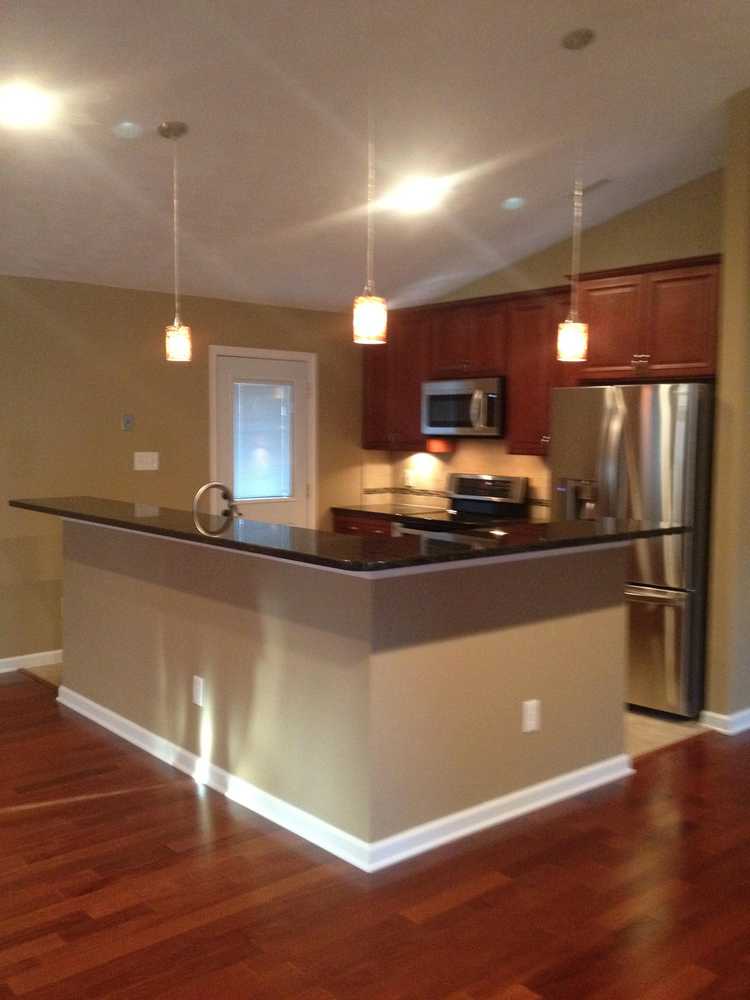
[[[63,684],[378,840],[623,752],[625,553],[367,580],[68,523]]]

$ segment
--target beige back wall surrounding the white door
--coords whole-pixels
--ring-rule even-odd
[[[209,476],[209,344],[317,353],[323,520],[332,503],[359,501],[361,368],[346,317],[187,298],[185,366],[163,360],[171,310],[159,293],[0,278],[0,659],[60,646],[59,525],[7,499],[186,508]],[[158,451],[159,472],[133,472],[136,450]]]

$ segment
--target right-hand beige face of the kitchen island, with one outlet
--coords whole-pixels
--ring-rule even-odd
[[[623,753],[626,552],[375,581],[373,839]]]

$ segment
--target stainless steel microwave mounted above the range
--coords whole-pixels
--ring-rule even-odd
[[[505,379],[423,382],[422,433],[431,437],[502,437]]]

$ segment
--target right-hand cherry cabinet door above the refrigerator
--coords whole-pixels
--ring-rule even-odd
[[[646,277],[650,378],[691,378],[716,371],[719,268],[684,267]]]

